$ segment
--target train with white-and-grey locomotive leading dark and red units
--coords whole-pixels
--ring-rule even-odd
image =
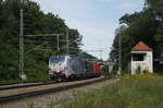
[[[83,60],[79,56],[53,56],[49,59],[49,69],[50,77],[60,81],[101,75],[99,63]]]

